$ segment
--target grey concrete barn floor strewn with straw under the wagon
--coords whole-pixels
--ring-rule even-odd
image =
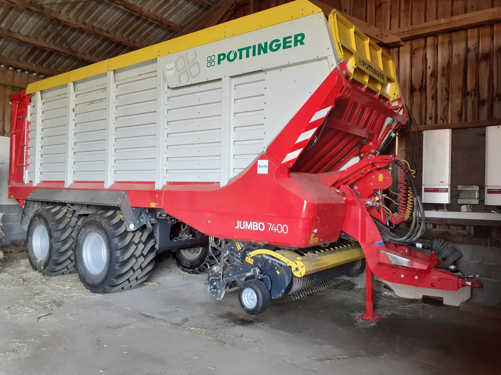
[[[40,277],[10,255],[0,271],[0,373],[499,374],[501,320],[392,296],[376,324],[356,319],[364,290],[325,289],[242,312],[205,275],[171,258],[150,283],[95,295],[77,275]],[[13,287],[12,282],[20,286]],[[39,316],[53,312],[51,315]]]

